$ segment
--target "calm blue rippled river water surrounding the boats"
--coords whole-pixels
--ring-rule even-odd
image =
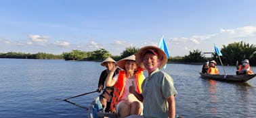
[[[100,62],[0,59],[0,117],[87,117],[87,110],[64,102],[98,88]],[[256,78],[226,83],[200,78],[202,65],[167,64],[177,89],[176,110],[184,117],[256,117]],[[217,66],[223,73],[221,66]],[[224,67],[235,74],[236,67]],[[253,67],[256,72],[256,67]],[[88,107],[99,93],[69,99]]]

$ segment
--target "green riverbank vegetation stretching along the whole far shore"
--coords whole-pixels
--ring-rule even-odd
[[[106,49],[98,49],[96,51],[80,51],[72,50],[68,53],[62,53],[61,55],[53,55],[49,53],[0,53],[0,58],[16,58],[16,59],[65,59],[66,61],[102,61],[106,57],[112,57],[114,60],[119,61],[124,57],[137,53],[139,48],[127,47],[121,55],[111,55]],[[246,42],[233,42],[227,46],[223,45],[221,49],[221,61],[223,65],[236,65],[236,61],[242,61],[249,59],[251,65],[256,65],[256,47]],[[168,63],[190,63],[190,64],[202,64],[207,60],[214,59],[220,64],[217,54],[212,53],[211,57],[205,57],[202,51],[196,49],[189,52],[189,55],[184,57],[169,57]]]

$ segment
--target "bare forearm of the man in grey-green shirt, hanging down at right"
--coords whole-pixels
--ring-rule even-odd
[[[169,96],[167,98],[167,101],[169,103],[169,118],[175,118],[176,109],[175,109],[175,98],[173,95]]]

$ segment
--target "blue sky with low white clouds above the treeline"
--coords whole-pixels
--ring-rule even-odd
[[[74,49],[157,46],[171,57],[213,52],[232,42],[256,44],[254,0],[1,0],[0,53],[62,54]]]

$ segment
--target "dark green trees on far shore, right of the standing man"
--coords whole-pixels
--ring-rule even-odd
[[[233,42],[228,46],[223,45],[221,49],[221,62],[223,65],[236,65],[236,61],[241,64],[241,61],[244,59],[249,59],[250,65],[256,65],[256,47],[255,45],[250,45],[245,42]],[[207,60],[215,60],[217,65],[221,65],[219,61],[219,57],[217,53],[212,53],[211,57],[206,58],[205,55],[202,54],[202,51],[198,49],[190,51],[189,55],[185,55],[185,57],[181,57],[179,59],[173,59],[173,61],[182,61],[185,63],[198,63],[205,62]]]

